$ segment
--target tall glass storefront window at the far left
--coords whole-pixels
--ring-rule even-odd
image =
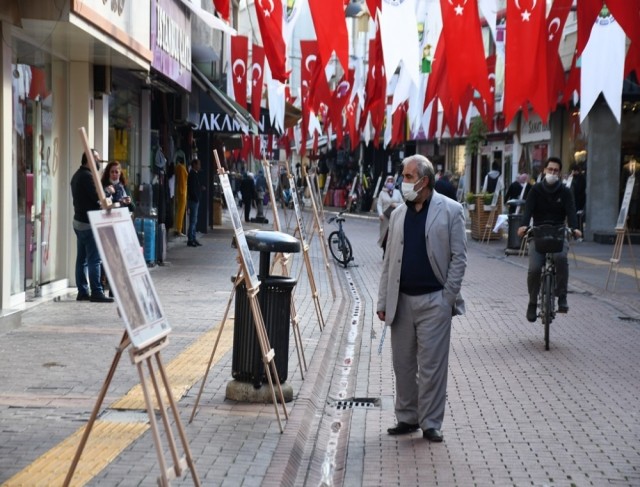
[[[66,212],[68,174],[60,154],[66,143],[66,64],[15,42],[13,64],[13,168],[11,294],[61,279],[66,246],[60,215]],[[21,55],[31,53],[31,56]],[[64,147],[63,147],[64,145]],[[63,218],[64,219],[64,218]]]

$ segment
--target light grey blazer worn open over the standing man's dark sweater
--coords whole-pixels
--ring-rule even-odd
[[[398,305],[406,213],[407,205],[399,206],[389,221],[377,306],[377,311],[386,314],[386,325],[393,323]],[[462,205],[434,191],[424,231],[427,256],[436,278],[444,286],[443,296],[451,304],[453,315],[464,314],[460,288],[467,267],[467,233]]]

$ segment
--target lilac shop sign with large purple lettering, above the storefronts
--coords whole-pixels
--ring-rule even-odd
[[[151,49],[151,66],[191,91],[191,17],[177,0],[154,1]]]

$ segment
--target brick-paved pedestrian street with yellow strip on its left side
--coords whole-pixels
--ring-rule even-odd
[[[311,215],[304,212],[307,222]],[[291,212],[281,218],[293,227]],[[325,224],[325,236],[332,229]],[[237,271],[226,212],[222,226],[199,237],[202,247],[172,237],[167,265],[150,269],[172,327],[162,361],[202,485],[640,485],[640,283],[631,258],[639,246],[623,246],[608,289],[614,247],[572,247],[570,311],[553,322],[545,351],[542,326],[524,316],[526,258],[506,255],[505,241],[470,239],[444,443],[429,444],[419,433],[386,434],[394,378],[375,316],[377,220],[348,215],[345,230],[355,254],[346,269],[330,262],[328,272],[317,234],[311,273],[302,253],[292,255],[308,368],[290,334],[293,401],[282,433],[273,404],[225,397],[233,305],[189,423]],[[31,303],[20,327],[0,330],[2,485],[61,485],[123,331],[116,305],[76,302],[72,289]],[[139,383],[123,354],[72,485],[156,485],[161,468]],[[192,477],[172,484],[192,485]]]

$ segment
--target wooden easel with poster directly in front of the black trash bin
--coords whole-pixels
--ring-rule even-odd
[[[238,214],[238,208],[236,207],[235,198],[233,196],[233,191],[231,190],[231,184],[229,183],[229,177],[220,164],[220,159],[218,158],[218,152],[216,150],[213,151],[213,156],[216,161],[216,165],[218,166],[218,175],[220,176],[220,183],[222,185],[222,190],[227,201],[227,208],[231,213],[231,219],[233,221],[233,230],[235,234],[236,244],[238,248],[238,260],[240,261],[241,272],[238,271],[236,275],[236,279],[233,285],[233,290],[235,291],[236,287],[244,281],[245,286],[247,288],[247,299],[249,300],[249,305],[251,306],[251,313],[253,316],[253,322],[256,329],[256,337],[258,338],[258,343],[260,344],[260,352],[262,354],[262,361],[264,363],[264,371],[267,376],[267,380],[269,382],[269,388],[271,390],[271,399],[273,401],[273,406],[276,412],[276,417],[278,419],[278,425],[280,426],[280,433],[284,432],[282,428],[282,421],[280,420],[280,412],[278,410],[278,400],[276,399],[276,391],[275,386],[278,389],[278,396],[280,402],[282,404],[282,410],[284,413],[284,417],[286,419],[289,418],[289,413],[287,412],[287,407],[284,400],[284,394],[282,393],[282,386],[280,385],[280,378],[278,377],[278,370],[276,369],[275,361],[273,360],[275,356],[275,352],[269,343],[269,337],[267,336],[267,330],[264,325],[264,319],[262,317],[262,310],[260,309],[260,303],[258,302],[258,291],[260,290],[260,281],[258,281],[258,277],[255,273],[255,266],[253,265],[253,261],[251,259],[251,253],[249,252],[249,246],[247,245],[247,239],[244,235],[244,230],[242,229],[242,223],[240,223],[240,215]],[[233,295],[233,293],[232,293]],[[229,302],[227,303],[227,310],[225,311],[225,319],[226,314],[229,311],[229,306],[231,304],[231,298],[229,297]],[[224,321],[220,325],[220,330],[218,331],[218,338],[214,344],[214,348],[211,353],[211,358],[209,359],[209,364],[207,367],[207,371],[205,373],[205,378],[208,376],[209,369],[211,368],[211,364],[213,362],[213,355],[215,354],[215,350],[218,346],[218,340],[222,333],[222,327],[224,326]],[[196,399],[196,403],[193,408],[193,412],[191,413],[191,419],[195,416],[195,412],[200,402],[200,396],[202,394],[202,390],[204,388],[204,379],[202,381],[202,385],[200,386],[200,392]],[[275,382],[275,386],[274,386]]]

